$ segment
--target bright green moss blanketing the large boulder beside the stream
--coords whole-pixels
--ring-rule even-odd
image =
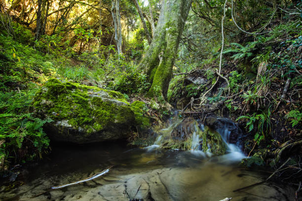
[[[103,101],[103,98],[113,101]],[[117,100],[126,104],[116,104]],[[87,134],[102,131],[118,124],[147,124],[139,105],[130,107],[119,92],[77,83],[49,79],[38,91],[33,102],[38,113],[55,121],[67,120],[76,129],[84,129]],[[135,119],[134,119],[135,117]]]

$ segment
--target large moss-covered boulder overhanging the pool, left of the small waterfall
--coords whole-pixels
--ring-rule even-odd
[[[132,107],[119,92],[58,79],[45,83],[33,106],[40,118],[53,120],[44,128],[52,140],[74,143],[126,138],[143,118],[142,104]]]

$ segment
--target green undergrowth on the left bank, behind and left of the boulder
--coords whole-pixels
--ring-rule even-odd
[[[31,108],[36,92],[48,79],[57,77],[115,90],[125,97],[145,93],[150,85],[135,61],[118,57],[113,45],[103,46],[102,54],[77,54],[58,34],[43,35],[37,41],[29,29],[18,23],[11,26],[13,34],[0,31],[1,168],[37,160],[48,152],[43,125],[53,120],[37,118]],[[132,53],[141,58],[138,54]],[[143,127],[149,125],[148,119],[141,119]]]

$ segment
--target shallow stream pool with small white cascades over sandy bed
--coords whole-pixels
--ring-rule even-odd
[[[162,132],[171,132],[175,124]],[[21,172],[11,189],[0,187],[1,201],[292,201],[294,190],[266,182],[239,192],[234,190],[263,181],[270,173],[239,166],[245,157],[227,142],[227,129],[220,131],[227,154],[213,156],[198,148],[193,133],[192,149],[160,149],[163,136],[147,148],[129,148],[123,143],[81,147],[57,146],[38,166]],[[52,186],[84,180],[106,167],[108,173],[73,186],[50,191]],[[38,197],[37,195],[41,194]]]

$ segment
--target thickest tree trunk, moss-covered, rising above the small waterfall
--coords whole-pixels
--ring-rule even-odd
[[[152,83],[149,96],[166,98],[191,0],[162,0],[154,37],[140,67]]]

